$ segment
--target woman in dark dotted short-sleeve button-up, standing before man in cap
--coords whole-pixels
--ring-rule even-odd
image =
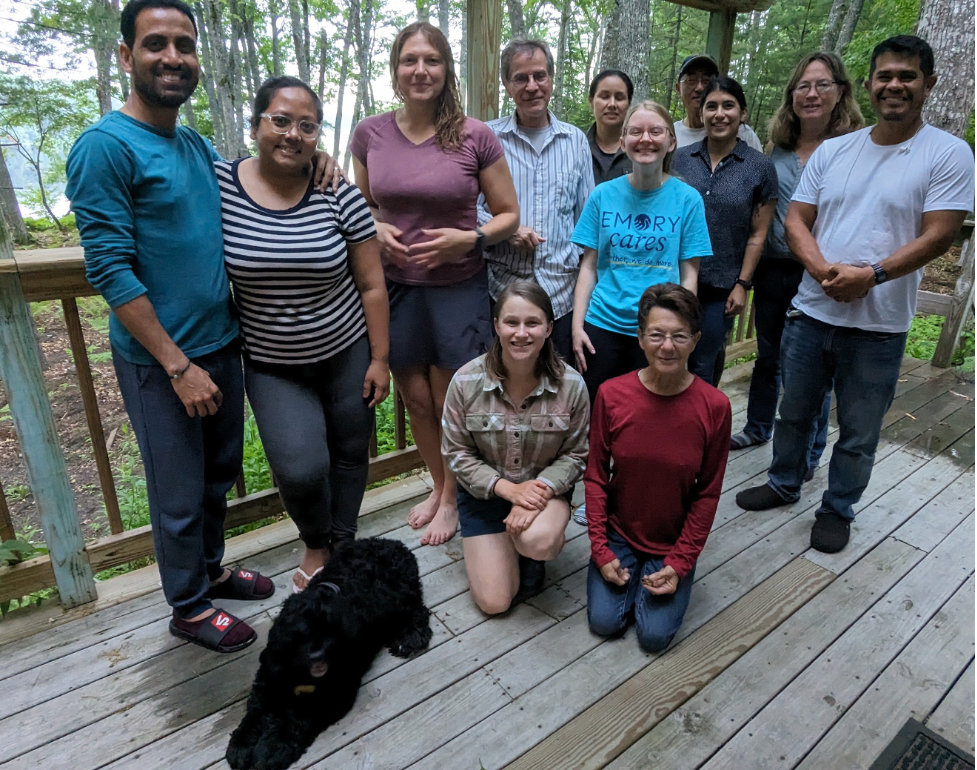
[[[713,256],[699,266],[702,338],[689,371],[718,385],[726,335],[753,288],[753,271],[777,208],[777,172],[770,158],[737,137],[746,119],[739,83],[714,77],[700,104],[706,138],[676,150],[672,171],[698,190],[706,205]]]

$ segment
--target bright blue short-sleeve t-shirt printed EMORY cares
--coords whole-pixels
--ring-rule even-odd
[[[675,177],[657,190],[635,190],[627,176],[597,185],[571,240],[597,250],[587,323],[628,336],[645,289],[680,283],[680,260],[712,256],[702,196]]]

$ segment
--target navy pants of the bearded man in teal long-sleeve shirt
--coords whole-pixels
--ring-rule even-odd
[[[181,618],[210,609],[210,581],[221,576],[225,495],[241,472],[244,379],[235,341],[194,358],[224,396],[216,414],[189,417],[166,370],[112,363],[146,469],[153,545],[163,595]]]

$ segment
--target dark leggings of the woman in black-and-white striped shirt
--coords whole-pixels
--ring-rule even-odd
[[[245,358],[248,400],[268,464],[309,548],[356,536],[373,435],[373,409],[363,398],[369,365],[365,335],[314,364]]]

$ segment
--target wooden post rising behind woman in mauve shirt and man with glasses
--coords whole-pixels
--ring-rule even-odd
[[[468,114],[479,120],[499,117],[499,53],[502,50],[502,0],[468,2]]]

